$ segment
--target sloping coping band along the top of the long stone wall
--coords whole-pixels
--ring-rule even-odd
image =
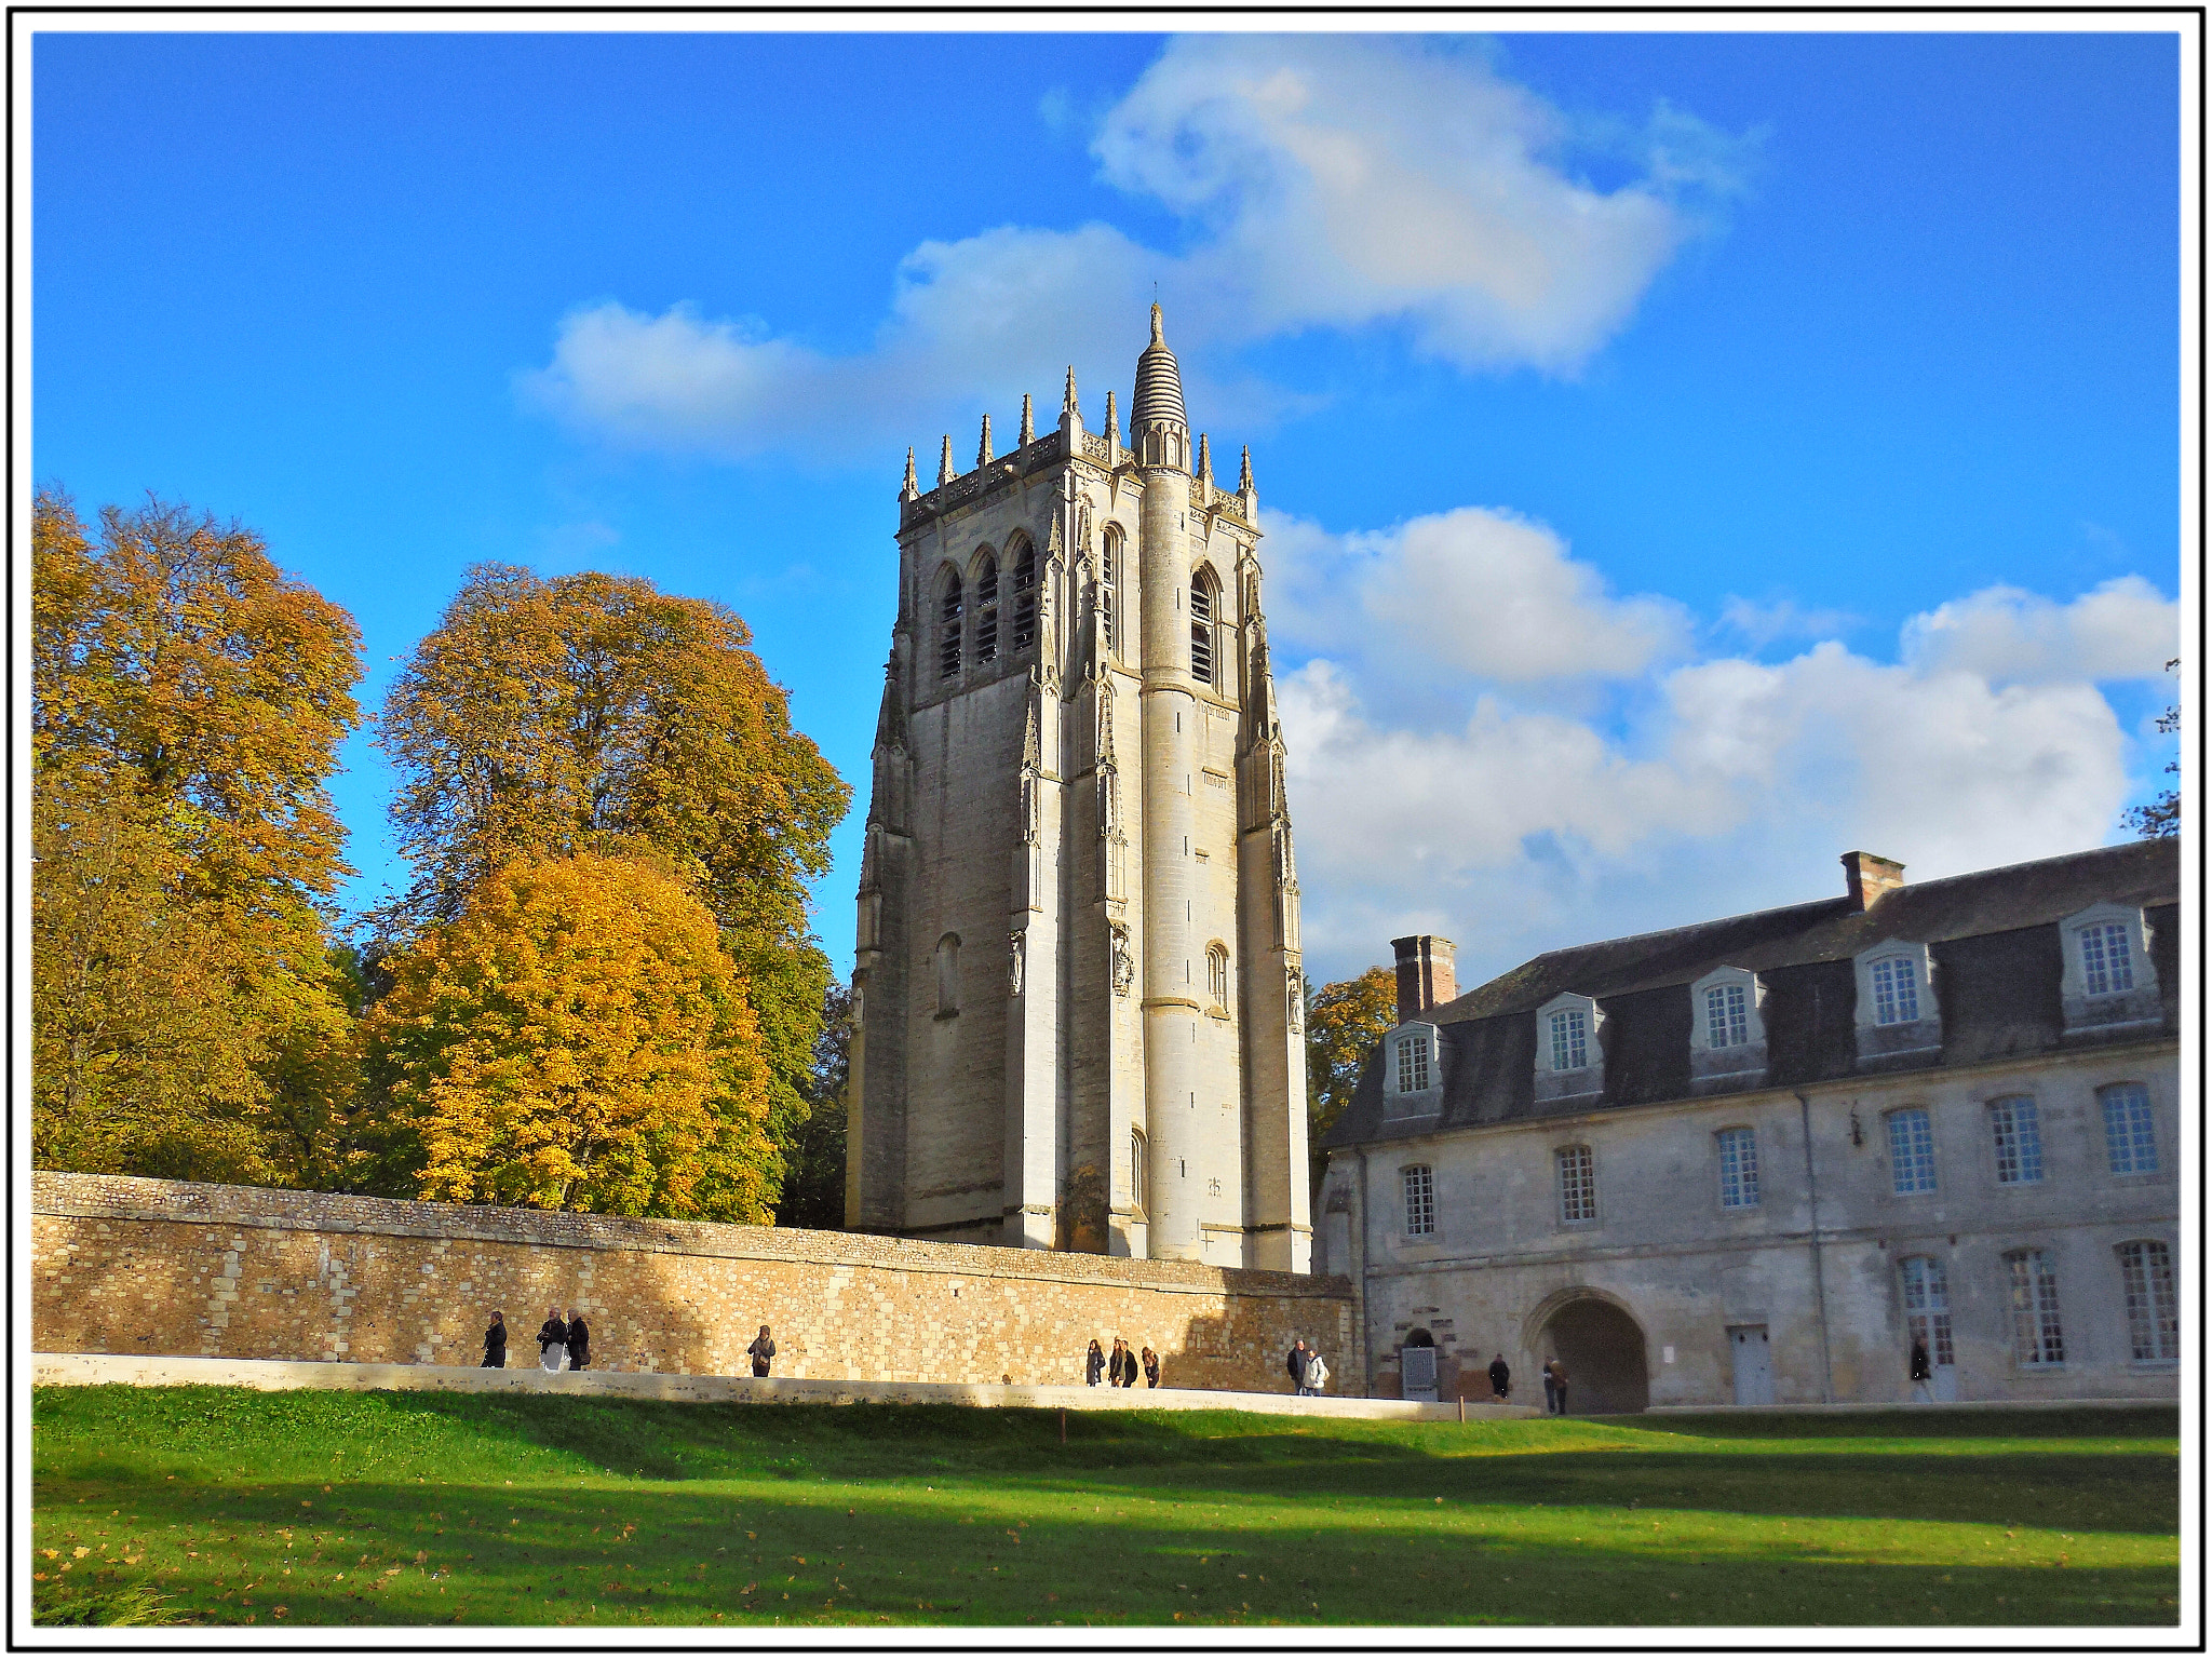
[[[349,1192],[292,1192],[208,1181],[155,1181],[139,1175],[31,1172],[31,1214],[279,1232],[354,1232],[394,1239],[520,1243],[553,1250],[644,1250],[672,1256],[805,1261],[878,1272],[956,1279],[1026,1279],[1062,1285],[1128,1285],[1181,1294],[1303,1296],[1349,1301],[1343,1274],[1285,1274],[1261,1267],[1210,1267],[1197,1261],[1091,1256],[1066,1250],[940,1243],[812,1228],[748,1228],[723,1221],[509,1210],[484,1203],[369,1199]]]

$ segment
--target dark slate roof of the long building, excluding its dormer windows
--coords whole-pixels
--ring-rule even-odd
[[[1321,1144],[1363,1146],[1520,1117],[1688,1099],[1688,987],[1717,967],[1752,969],[1765,984],[1767,1073],[1752,1086],[1858,1075],[1851,958],[1891,938],[1927,945],[1936,962],[1942,1009],[1936,1064],[2055,1051],[2064,1035],[2064,958],[2055,922],[2099,902],[2143,907],[2166,1031],[2172,1033],[2181,978],[2179,896],[2179,843],[2132,841],[1907,883],[1865,911],[1838,896],[1546,951],[1425,1011],[1444,1051],[1440,1115],[1385,1119],[1383,1073],[1369,1055],[1352,1104]],[[1606,1088],[1595,1099],[1540,1104],[1533,1015],[1562,991],[1597,998],[1606,1015]],[[2079,1048],[2084,1037],[2077,1033],[2064,1046]]]

